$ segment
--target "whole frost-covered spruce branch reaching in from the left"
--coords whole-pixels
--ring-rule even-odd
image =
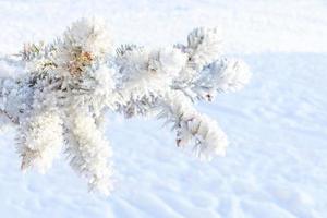
[[[193,104],[241,89],[251,74],[221,57],[217,31],[196,28],[186,45],[114,49],[104,24],[82,19],[51,44],[1,58],[1,126],[17,126],[22,170],[45,172],[64,150],[90,190],[109,194],[112,152],[100,129],[107,111],[165,119],[178,146],[193,146],[201,159],[225,155],[226,134]]]

